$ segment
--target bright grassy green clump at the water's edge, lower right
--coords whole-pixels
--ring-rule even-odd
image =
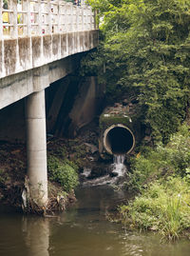
[[[181,177],[154,182],[119,211],[125,226],[159,231],[170,240],[190,227],[190,189]]]

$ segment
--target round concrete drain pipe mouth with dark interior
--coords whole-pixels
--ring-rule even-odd
[[[104,130],[104,148],[109,154],[127,154],[135,147],[133,132],[122,124]]]

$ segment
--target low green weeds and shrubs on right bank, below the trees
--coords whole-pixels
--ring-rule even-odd
[[[181,126],[166,145],[133,160],[130,185],[140,195],[119,208],[124,226],[159,231],[169,240],[189,235],[190,131]]]

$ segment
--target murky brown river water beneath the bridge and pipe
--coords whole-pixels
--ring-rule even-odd
[[[78,204],[53,218],[1,210],[1,256],[189,256],[190,242],[161,244],[160,237],[125,231],[105,220],[123,193],[83,187]]]

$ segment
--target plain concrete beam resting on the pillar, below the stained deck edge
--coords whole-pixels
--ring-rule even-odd
[[[0,109],[19,101],[29,94],[46,89],[49,84],[78,69],[80,54],[68,56],[37,69],[0,79]]]

